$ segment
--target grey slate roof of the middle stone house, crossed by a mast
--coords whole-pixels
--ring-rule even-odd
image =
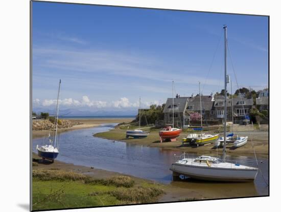
[[[210,111],[213,108],[212,96],[201,96],[202,110]],[[187,111],[200,111],[200,96],[189,97],[188,105],[192,105],[192,109]]]

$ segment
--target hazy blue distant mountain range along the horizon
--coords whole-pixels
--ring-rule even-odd
[[[54,109],[46,109],[43,107],[33,108],[32,110],[36,114],[40,114],[41,112],[49,113],[50,115],[54,115]],[[78,110],[78,109],[60,109],[60,116],[135,116],[137,115],[137,111],[135,109],[131,110],[96,110],[96,111],[87,111],[87,110]]]

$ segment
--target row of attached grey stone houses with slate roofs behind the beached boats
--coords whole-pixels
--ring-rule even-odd
[[[165,108],[163,110],[165,124],[172,124],[172,98],[168,98]],[[233,101],[233,107],[231,107]],[[213,120],[223,122],[224,118],[224,96],[210,94],[208,96],[201,96],[202,102],[202,121],[208,123]],[[253,107],[253,99],[245,97],[227,98],[227,121],[235,123],[242,123],[245,116],[249,116],[250,110]],[[233,108],[233,113],[232,113]],[[201,113],[200,111],[200,96],[199,94],[191,97],[174,98],[174,126],[186,127],[190,124],[190,115],[192,113]]]

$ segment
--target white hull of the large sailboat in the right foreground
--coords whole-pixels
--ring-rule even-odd
[[[170,170],[178,175],[208,181],[246,182],[253,181],[257,175],[257,169],[202,167],[175,163]]]

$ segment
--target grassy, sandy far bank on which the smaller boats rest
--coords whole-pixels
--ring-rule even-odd
[[[150,134],[147,138],[126,138],[126,130],[128,129],[134,129],[137,128],[137,126],[129,125],[129,124],[122,124],[119,126],[116,126],[114,129],[108,131],[108,132],[102,132],[97,133],[94,136],[100,137],[100,138],[106,138],[109,140],[114,141],[123,141],[127,143],[133,143],[137,145],[145,145],[149,147],[162,147],[163,149],[172,149],[172,150],[180,150],[185,151],[188,153],[193,154],[209,154],[209,155],[216,155],[217,149],[213,147],[213,144],[205,144],[203,146],[191,146],[189,144],[182,145],[182,138],[187,136],[189,133],[191,133],[190,130],[183,131],[180,136],[177,138],[177,141],[174,142],[162,142],[160,143],[159,139],[159,129],[150,129]],[[246,127],[246,126],[245,126]],[[147,129],[146,129],[147,130]],[[222,136],[222,130],[223,128],[217,128],[212,129],[210,131],[205,131],[205,133],[212,133],[212,134],[220,134]],[[229,130],[229,126],[228,126]],[[248,143],[244,146],[241,146],[237,149],[234,149],[232,145],[228,145],[226,147],[227,154],[230,156],[253,156],[253,149],[252,149],[252,143],[255,148],[255,153],[259,157],[268,157],[268,132],[267,131],[258,131],[258,132],[239,132],[240,136],[248,136]],[[252,143],[251,143],[252,141]],[[218,149],[218,154],[222,155],[222,148]]]

